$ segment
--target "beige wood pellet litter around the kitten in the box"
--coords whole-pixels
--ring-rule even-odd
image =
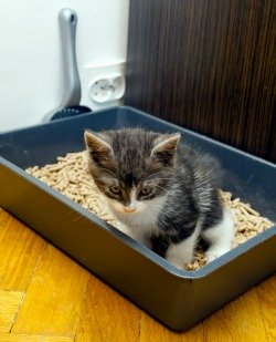
[[[87,154],[85,151],[68,153],[65,157],[57,157],[56,164],[43,167],[29,167],[26,173],[120,229],[120,224],[108,211],[104,196],[97,189],[88,173]],[[231,208],[234,214],[235,238],[232,248],[273,226],[273,222],[262,217],[250,204],[243,203],[240,198],[232,199],[231,193],[220,190],[220,197],[223,205]],[[205,263],[204,253],[197,251],[194,261],[188,263],[185,268],[188,270],[197,270]]]

